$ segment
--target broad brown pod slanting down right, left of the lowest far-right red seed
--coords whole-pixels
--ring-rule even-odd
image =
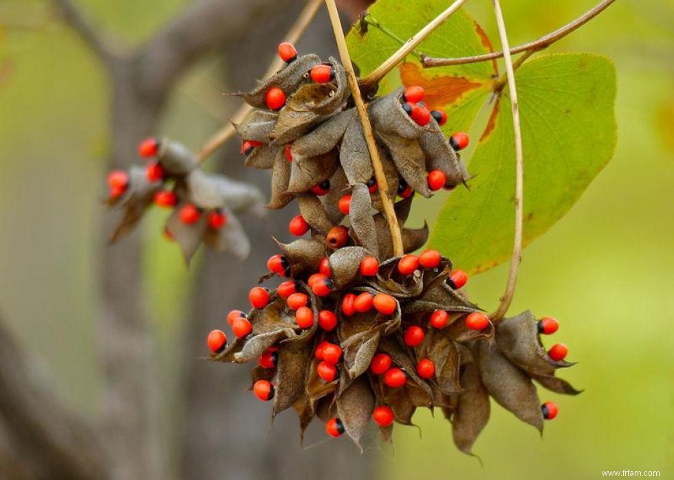
[[[475,343],[473,355],[482,382],[494,400],[517,418],[542,432],[541,402],[529,376],[512,365],[501,354],[497,345],[486,340],[481,339]]]

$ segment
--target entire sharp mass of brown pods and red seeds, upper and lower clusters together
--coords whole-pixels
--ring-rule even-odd
[[[557,393],[578,391],[555,376],[572,364],[545,352],[541,323],[530,312],[492,323],[461,292],[466,276],[448,258],[409,254],[428,233],[404,227],[409,190],[430,196],[429,172],[442,172],[449,188],[467,179],[439,116],[417,122],[409,112],[419,102],[406,107],[403,89],[367,107],[389,200],[403,197],[395,213],[407,254],[393,257],[343,68],[333,58],[288,58],[257,89],[238,94],[254,110],[236,128],[246,165],[272,169],[269,206],[297,199],[311,234],[279,243],[282,253],[270,258],[272,273],[261,281],[289,279],[251,290],[253,309],[228,316],[235,341],[227,344],[220,330],[209,335],[211,358],[257,361],[254,393],[273,401],[272,415],[293,407],[302,437],[318,417],[329,435],[346,432],[360,446],[371,420],[390,439],[393,422],[409,425],[418,407],[439,407],[457,447],[470,453],[488,421],[490,397],[542,429],[556,405],[541,406],[533,380]],[[556,330],[547,320],[546,334]]]

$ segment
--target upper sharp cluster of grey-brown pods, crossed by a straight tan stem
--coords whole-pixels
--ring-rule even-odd
[[[314,81],[313,69],[325,65],[333,71],[329,81]],[[273,110],[266,93],[278,89],[285,100],[271,104],[278,108]],[[382,199],[343,67],[334,58],[324,64],[318,56],[301,56],[254,91],[238,95],[255,107],[236,126],[246,165],[272,169],[268,206],[279,209],[297,199],[316,235],[327,237],[345,222],[349,244],[367,248],[380,260],[389,258],[393,249]],[[466,170],[437,121],[431,118],[421,126],[404,110],[405,103],[401,88],[369,104],[389,199],[413,192],[431,196],[429,172],[442,172],[446,188],[466,181]],[[397,211],[406,217],[409,205]],[[427,233],[425,227],[403,229],[405,251],[424,244]]]

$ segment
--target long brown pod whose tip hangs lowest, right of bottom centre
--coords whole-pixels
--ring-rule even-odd
[[[489,393],[482,385],[475,363],[469,363],[461,374],[464,393],[457,397],[452,417],[454,444],[464,453],[472,455],[473,444],[489,421]]]

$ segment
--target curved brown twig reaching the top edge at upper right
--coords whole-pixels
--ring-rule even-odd
[[[550,32],[547,35],[541,36],[530,43],[525,43],[517,47],[510,49],[510,54],[519,54],[521,52],[527,51],[538,51],[544,48],[549,47],[553,43],[561,38],[564,38],[574,30],[585,25],[591,19],[594,19],[595,16],[606,10],[611,3],[616,0],[602,0],[594,8],[588,10],[583,15],[579,16],[574,21],[567,23],[561,28],[558,28],[554,32]],[[445,67],[447,65],[464,65],[466,63],[477,63],[477,62],[486,62],[488,60],[494,60],[494,58],[501,58],[503,52],[492,52],[490,54],[476,55],[470,57],[461,57],[461,58],[433,58],[428,56],[422,56],[422,65],[424,67]]]

